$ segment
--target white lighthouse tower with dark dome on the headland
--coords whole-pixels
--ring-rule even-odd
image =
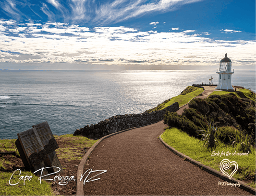
[[[231,60],[225,54],[225,58],[221,59],[219,62],[219,69],[217,69],[217,74],[219,74],[219,84],[215,89],[220,90],[233,90],[231,85],[231,76],[234,73],[234,69],[231,69]]]

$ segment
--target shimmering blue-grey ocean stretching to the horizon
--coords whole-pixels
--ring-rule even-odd
[[[235,71],[232,85],[256,92],[255,71]],[[73,134],[118,114],[136,114],[187,86],[218,83],[216,71],[0,71],[0,139],[48,121],[55,135]]]

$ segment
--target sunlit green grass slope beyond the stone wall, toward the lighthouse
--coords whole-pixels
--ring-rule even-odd
[[[178,102],[179,107],[181,107],[187,104],[192,98],[200,95],[202,92],[204,92],[202,88],[189,86],[181,93],[181,95],[165,100],[163,103],[159,104],[156,108],[149,109],[146,112],[150,113],[152,111],[165,109],[166,107],[171,106],[171,104],[175,102]]]

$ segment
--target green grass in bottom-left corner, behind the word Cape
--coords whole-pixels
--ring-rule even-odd
[[[54,195],[53,191],[51,190],[51,187],[49,183],[46,181],[42,181],[42,184],[40,184],[40,181],[38,180],[38,177],[31,172],[21,172],[21,175],[19,175],[19,171],[16,171],[13,176],[13,173],[0,173],[0,195],[1,196],[52,196]],[[25,185],[24,181],[19,181],[19,177],[22,175],[28,175],[32,178],[30,181],[26,180]],[[10,185],[9,180],[11,179],[11,184],[17,185]]]

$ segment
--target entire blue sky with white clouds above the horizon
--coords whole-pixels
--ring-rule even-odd
[[[255,0],[0,0],[0,69],[255,70]]]

